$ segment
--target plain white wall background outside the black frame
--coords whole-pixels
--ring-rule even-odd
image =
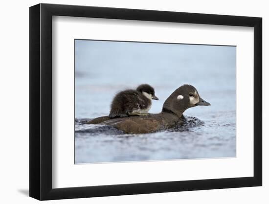
[[[265,59],[269,47],[268,5],[265,0],[43,0],[44,3],[77,4],[106,7],[181,11],[193,13],[225,14],[263,17],[264,104],[269,103],[269,77]],[[0,203],[38,203],[28,197],[29,152],[29,6],[38,0],[10,0],[1,2],[0,12],[0,124],[1,168]],[[269,123],[269,108],[264,106],[264,127]],[[46,203],[259,203],[268,202],[269,192],[269,130],[264,128],[264,185],[236,189],[159,193],[133,196],[71,199]]]

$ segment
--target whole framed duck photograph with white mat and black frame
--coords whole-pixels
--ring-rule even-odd
[[[30,7],[30,196],[262,185],[262,18]]]

